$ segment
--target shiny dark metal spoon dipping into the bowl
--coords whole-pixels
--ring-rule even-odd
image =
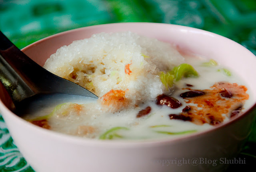
[[[42,68],[26,54],[20,51],[0,31],[0,81],[10,95],[15,109],[14,113],[22,116],[33,102],[42,106],[56,94],[65,96],[85,96],[98,98],[85,88],[60,78]],[[51,101],[52,102],[52,101]]]

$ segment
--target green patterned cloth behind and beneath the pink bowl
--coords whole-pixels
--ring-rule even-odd
[[[0,0],[0,30],[18,48],[58,32],[116,22],[200,28],[256,54],[256,0]],[[255,169],[256,125],[237,158],[245,158],[246,164],[231,164],[228,171]],[[1,116],[0,172],[34,172]]]

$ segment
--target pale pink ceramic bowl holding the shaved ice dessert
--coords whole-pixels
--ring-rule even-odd
[[[8,109],[0,88],[0,110],[10,134],[36,172],[184,172],[223,171],[234,160],[252,130],[256,109],[256,57],[240,44],[204,30],[158,23],[117,23],[62,32],[22,51],[44,65],[60,46],[99,32],[132,31],[174,43],[182,51],[212,58],[237,71],[252,88],[250,108],[211,130],[155,141],[88,140],[39,128]],[[244,160],[245,161],[245,160]],[[240,163],[243,161],[240,160]]]

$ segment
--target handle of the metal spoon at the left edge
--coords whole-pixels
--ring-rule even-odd
[[[26,75],[35,74],[33,66],[38,65],[21,52],[0,31],[0,81],[14,102],[38,92]]]

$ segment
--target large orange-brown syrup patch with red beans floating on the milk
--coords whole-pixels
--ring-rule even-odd
[[[237,115],[242,109],[242,104],[248,100],[247,88],[229,82],[218,82],[211,86],[212,90],[192,90],[204,92],[194,97],[183,97],[190,105],[180,115],[190,117],[195,124],[208,123],[220,124],[227,117]],[[191,90],[190,88],[184,88]],[[226,114],[222,116],[222,114]]]

